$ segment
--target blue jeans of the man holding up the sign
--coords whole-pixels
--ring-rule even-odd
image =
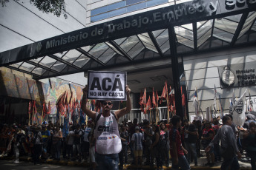
[[[118,170],[118,154],[98,154],[95,152],[97,170]]]

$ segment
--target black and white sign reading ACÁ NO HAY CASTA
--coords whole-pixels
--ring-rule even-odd
[[[88,71],[88,98],[126,101],[126,72]]]

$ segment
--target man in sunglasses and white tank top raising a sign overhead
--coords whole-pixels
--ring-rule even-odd
[[[90,77],[90,75],[89,75]],[[118,129],[118,123],[117,120],[121,118],[123,115],[127,114],[131,111],[131,98],[130,98],[130,92],[131,89],[129,87],[123,86],[122,81],[119,82],[119,84],[115,85],[120,89],[124,89],[125,93],[127,95],[127,101],[126,101],[126,107],[123,109],[116,110],[115,112],[111,112],[111,108],[113,106],[111,100],[109,98],[104,101],[101,100],[101,112],[94,112],[91,109],[88,109],[87,107],[87,96],[88,89],[92,90],[92,87],[98,88],[98,89],[108,89],[106,86],[111,86],[111,78],[99,78],[99,81],[90,81],[90,78],[88,77],[88,85],[85,86],[83,90],[83,97],[82,97],[82,111],[85,112],[88,117],[95,120],[95,130],[94,130],[94,136],[96,138],[96,146],[95,146],[95,160],[97,169],[118,169],[119,164],[119,156],[118,153],[122,150],[122,143],[119,136],[119,129]],[[95,79],[94,79],[95,80]],[[102,83],[102,86],[100,84],[91,84],[91,82],[100,82],[105,81]],[[114,81],[115,83],[116,81]],[[90,92],[90,91],[89,91]],[[97,96],[95,96],[97,98]],[[113,99],[115,100],[115,99]]]

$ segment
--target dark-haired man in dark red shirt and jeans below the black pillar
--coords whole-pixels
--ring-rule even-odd
[[[184,156],[184,153],[187,154],[188,152],[182,146],[180,132],[178,130],[181,126],[180,116],[174,115],[174,117],[171,119],[171,123],[173,124],[169,135],[172,159],[171,168],[179,169],[180,167],[183,170],[188,170],[190,169],[190,166],[188,164],[188,160]]]

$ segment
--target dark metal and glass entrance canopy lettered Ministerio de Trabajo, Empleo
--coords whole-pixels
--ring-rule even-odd
[[[223,3],[189,1],[48,38],[1,52],[0,67],[42,79],[255,45],[256,3]]]

